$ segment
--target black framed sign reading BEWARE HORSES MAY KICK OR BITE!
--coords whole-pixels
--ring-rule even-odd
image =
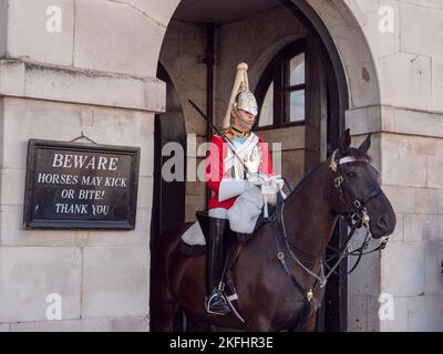
[[[25,229],[135,228],[140,148],[30,139]]]

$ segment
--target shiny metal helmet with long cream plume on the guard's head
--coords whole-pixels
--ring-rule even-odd
[[[248,64],[240,63],[237,65],[237,76],[234,82],[234,88],[230,94],[228,108],[223,121],[223,129],[230,127],[230,112],[231,110],[244,110],[250,114],[258,115],[257,100],[249,91],[248,82]]]

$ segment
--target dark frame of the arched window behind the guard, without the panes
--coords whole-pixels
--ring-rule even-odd
[[[305,83],[290,85],[289,62],[292,58],[305,53]],[[306,38],[299,39],[285,46],[268,64],[258,81],[255,95],[260,113],[266,93],[274,82],[272,124],[259,126],[259,117],[254,125],[255,131],[266,131],[287,126],[305,125],[308,119],[308,71],[307,71]],[[290,93],[305,90],[305,119],[290,122]]]

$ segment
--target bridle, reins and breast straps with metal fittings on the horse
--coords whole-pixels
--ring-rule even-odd
[[[281,263],[285,273],[290,275],[293,285],[300,291],[300,293],[303,295],[303,299],[305,299],[302,313],[297,321],[297,329],[299,329],[300,325],[307,320],[307,315],[309,314],[309,310],[310,310],[311,300],[313,299],[313,289],[316,288],[317,283],[320,284],[320,288],[323,288],[327,284],[329,278],[333,273],[336,273],[336,269],[341,264],[341,262],[343,261],[343,259],[346,257],[357,256],[358,260],[357,260],[356,264],[348,272],[348,274],[350,274],[359,264],[362,256],[384,249],[388,243],[388,240],[389,240],[389,238],[385,238],[379,247],[377,247],[375,249],[373,249],[371,251],[364,252],[367,250],[367,248],[369,247],[369,236],[371,235],[370,225],[369,225],[371,219],[369,217],[365,206],[373,198],[375,198],[378,196],[383,196],[384,194],[380,188],[377,188],[377,189],[372,190],[369,194],[369,196],[367,196],[365,198],[359,199],[356,196],[356,194],[353,192],[351,186],[343,178],[340,165],[356,163],[356,162],[361,162],[361,163],[368,164],[369,162],[367,159],[357,159],[351,156],[337,159],[337,154],[338,154],[338,150],[334,150],[331,156],[329,169],[333,174],[333,186],[336,188],[336,191],[338,192],[341,202],[347,207],[348,211],[346,212],[346,215],[342,214],[341,216],[346,217],[348,226],[350,228],[350,231],[349,231],[349,235],[347,237],[347,240],[346,240],[343,247],[341,249],[334,249],[336,253],[333,256],[330,256],[328,258],[323,257],[323,259],[320,261],[320,273],[319,274],[317,274],[316,272],[310,270],[308,267],[306,267],[302,263],[302,261],[291,250],[291,243],[288,239],[288,236],[286,232],[286,227],[285,227],[285,218],[284,218],[285,202],[277,205],[277,210],[276,210],[275,215],[271,217],[272,227],[275,229],[275,235],[282,236],[282,240],[285,242],[285,248],[288,251],[290,258],[298,266],[300,266],[305,272],[307,272],[309,275],[311,275],[315,279],[313,284],[311,287],[309,287],[308,289],[306,289],[305,287],[302,287],[300,284],[300,282],[292,275],[292,273],[286,262],[285,252],[279,244],[280,243],[279,238],[276,237],[275,238],[275,247],[276,247],[276,251],[277,251],[277,259]],[[352,202],[347,201],[344,190],[347,191],[348,198],[351,199]],[[293,192],[293,190],[292,190],[292,192]],[[356,231],[362,227],[364,227],[367,229],[367,235],[364,237],[364,240],[359,248],[352,249],[352,241],[353,241]],[[328,248],[330,248],[330,247],[328,247]],[[332,248],[330,248],[330,249],[332,249]],[[333,266],[329,266],[328,262],[333,259],[337,259],[337,261],[334,262]],[[327,273],[324,272],[326,268],[328,269]]]

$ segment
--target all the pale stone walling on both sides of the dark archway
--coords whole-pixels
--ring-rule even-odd
[[[155,74],[178,2],[0,0],[0,331],[146,329],[153,116],[165,107]],[[387,250],[350,278],[350,330],[442,330],[442,1],[308,3],[346,70],[347,126],[356,144],[373,133],[371,153],[398,215]],[[393,11],[392,33],[380,31],[381,4]],[[49,6],[62,10],[61,32],[47,30]],[[302,34],[292,14],[272,11],[218,29],[217,122],[236,64],[250,64],[254,88],[269,59]],[[197,75],[193,91],[204,107],[203,71]],[[189,110],[184,105],[188,124]],[[28,139],[69,140],[81,131],[99,143],[142,147],[136,230],[24,231]],[[198,202],[203,189],[189,188]],[[63,295],[64,321],[44,321],[49,292]],[[394,298],[393,321],[378,316],[381,293]]]

